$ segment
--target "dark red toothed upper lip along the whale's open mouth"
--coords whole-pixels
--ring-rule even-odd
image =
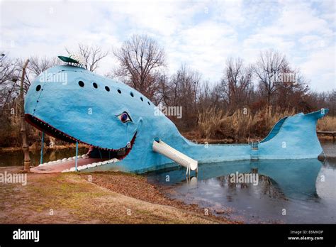
[[[67,133],[58,130],[57,128],[51,126],[50,124],[47,124],[45,121],[43,121],[41,119],[38,119],[36,116],[33,116],[31,114],[25,114],[25,119],[29,124],[31,124],[35,128],[38,128],[40,131],[43,131],[43,132],[47,133],[49,136],[53,136],[57,139],[60,139],[62,141],[66,141],[68,143],[78,142],[78,143],[84,143],[84,144],[89,145],[89,146],[94,146],[91,143],[86,143],[86,142],[81,141],[77,138],[74,138],[73,136],[69,136]],[[132,149],[132,147],[133,147],[136,135],[137,135],[137,132],[135,131],[134,136],[133,136],[132,140],[130,141],[130,147],[129,148],[127,147],[127,145],[123,148],[118,148],[118,149],[103,148],[103,147],[99,147],[99,146],[94,146],[94,147],[95,148],[100,148],[102,150],[117,151],[117,152],[119,150],[125,149],[126,154],[124,156],[126,156],[130,152],[130,149]]]

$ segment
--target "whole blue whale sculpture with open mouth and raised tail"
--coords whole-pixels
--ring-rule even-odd
[[[89,171],[147,172],[177,165],[153,151],[158,139],[198,163],[318,158],[323,150],[316,124],[327,111],[281,119],[259,143],[204,145],[181,136],[140,92],[82,67],[60,65],[46,70],[31,84],[25,101],[30,124],[63,141],[89,144],[92,156],[98,153],[106,158],[98,165],[86,165],[83,170]]]

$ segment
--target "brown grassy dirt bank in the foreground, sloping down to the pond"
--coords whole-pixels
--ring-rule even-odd
[[[0,173],[20,168],[0,168]],[[140,175],[28,174],[26,186],[0,183],[2,224],[226,224],[196,205],[168,199]]]

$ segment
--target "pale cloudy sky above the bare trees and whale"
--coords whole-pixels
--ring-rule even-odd
[[[134,33],[155,38],[168,72],[181,63],[218,82],[228,57],[285,53],[318,92],[335,82],[336,1],[4,1],[0,49],[12,57],[67,55],[78,43],[118,48]],[[112,55],[99,67],[116,65]]]

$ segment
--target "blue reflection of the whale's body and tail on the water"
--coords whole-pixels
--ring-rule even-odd
[[[249,173],[257,170],[259,176],[269,177],[271,184],[278,187],[286,197],[306,199],[317,197],[315,182],[321,166],[322,163],[316,159],[208,163],[199,166],[197,179],[198,181],[208,180],[213,177],[228,176],[235,172]],[[164,184],[167,183],[167,175],[169,175],[169,184],[177,184],[182,182],[181,177],[184,177],[185,171],[179,169],[169,172],[167,170],[160,173],[153,172],[149,177],[150,180]]]

